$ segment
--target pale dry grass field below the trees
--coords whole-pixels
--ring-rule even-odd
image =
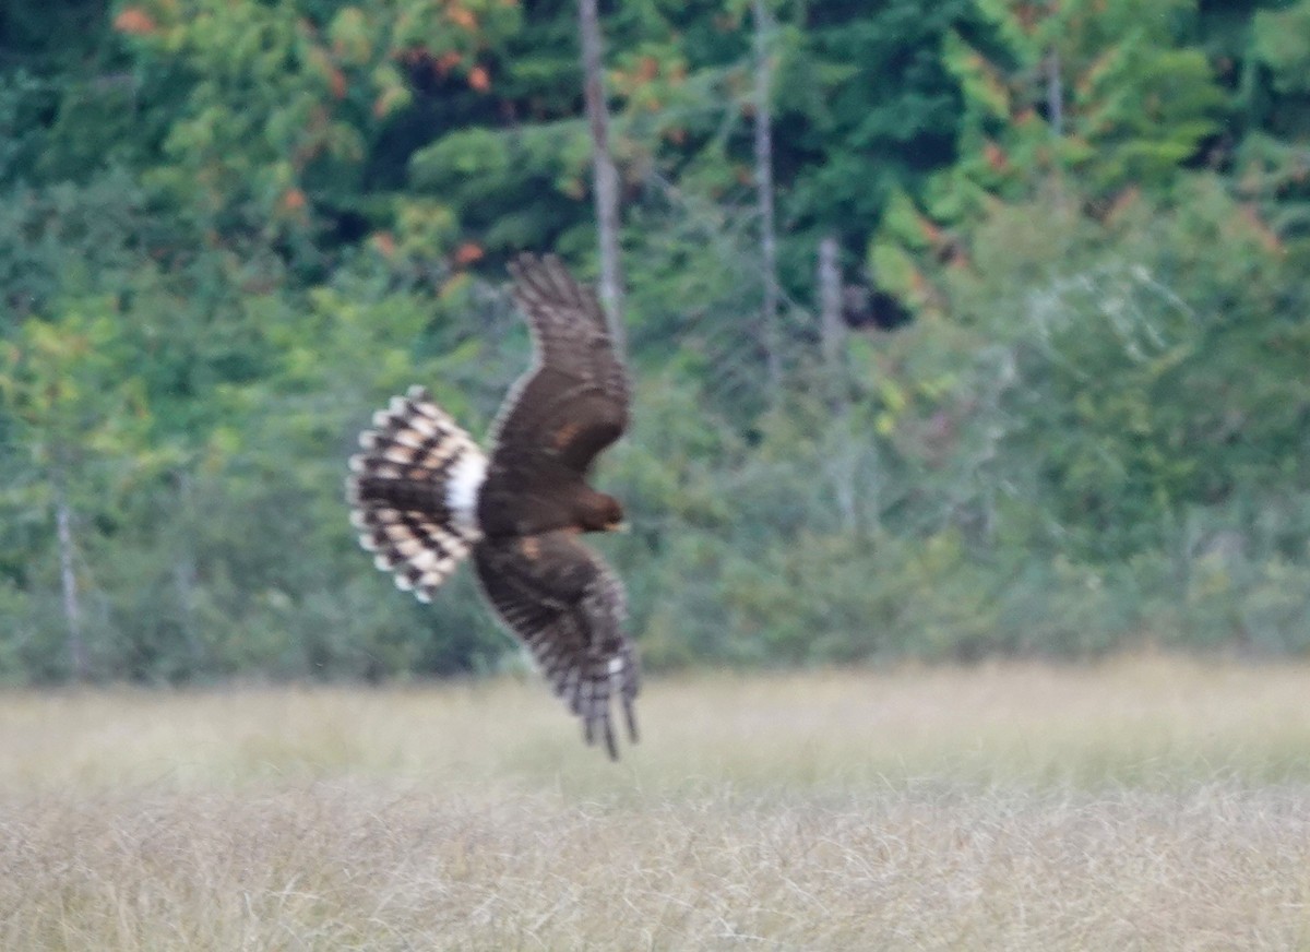
[[[1310,667],[0,694],[3,949],[1310,949]]]

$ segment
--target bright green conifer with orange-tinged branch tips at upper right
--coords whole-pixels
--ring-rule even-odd
[[[875,280],[916,309],[945,306],[938,274],[968,265],[971,232],[998,202],[1035,196],[1112,215],[1167,194],[1218,128],[1224,94],[1192,45],[1195,0],[986,0],[976,39],[942,60],[964,109],[958,158],[914,195],[893,192],[869,254]]]

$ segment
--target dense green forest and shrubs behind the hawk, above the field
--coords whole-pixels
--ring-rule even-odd
[[[769,9],[603,10],[638,409],[601,545],[647,664],[1310,647],[1310,0]],[[498,664],[342,478],[411,382],[482,432],[510,255],[595,274],[575,22],[0,10],[0,676]]]

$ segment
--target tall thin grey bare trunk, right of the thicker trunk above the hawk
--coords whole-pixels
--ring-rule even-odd
[[[782,356],[778,334],[778,249],[773,213],[773,113],[769,64],[769,12],[765,0],[753,0],[755,16],[755,186],[760,203],[760,258],[764,271],[764,308],[760,314],[769,386],[774,401],[782,393]]]

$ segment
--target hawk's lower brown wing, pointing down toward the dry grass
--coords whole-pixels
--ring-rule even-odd
[[[567,530],[483,540],[473,560],[500,621],[528,646],[555,694],[582,718],[587,742],[604,737],[610,758],[617,760],[612,695],[618,695],[627,735],[637,741],[638,670],[621,627],[622,584]]]

